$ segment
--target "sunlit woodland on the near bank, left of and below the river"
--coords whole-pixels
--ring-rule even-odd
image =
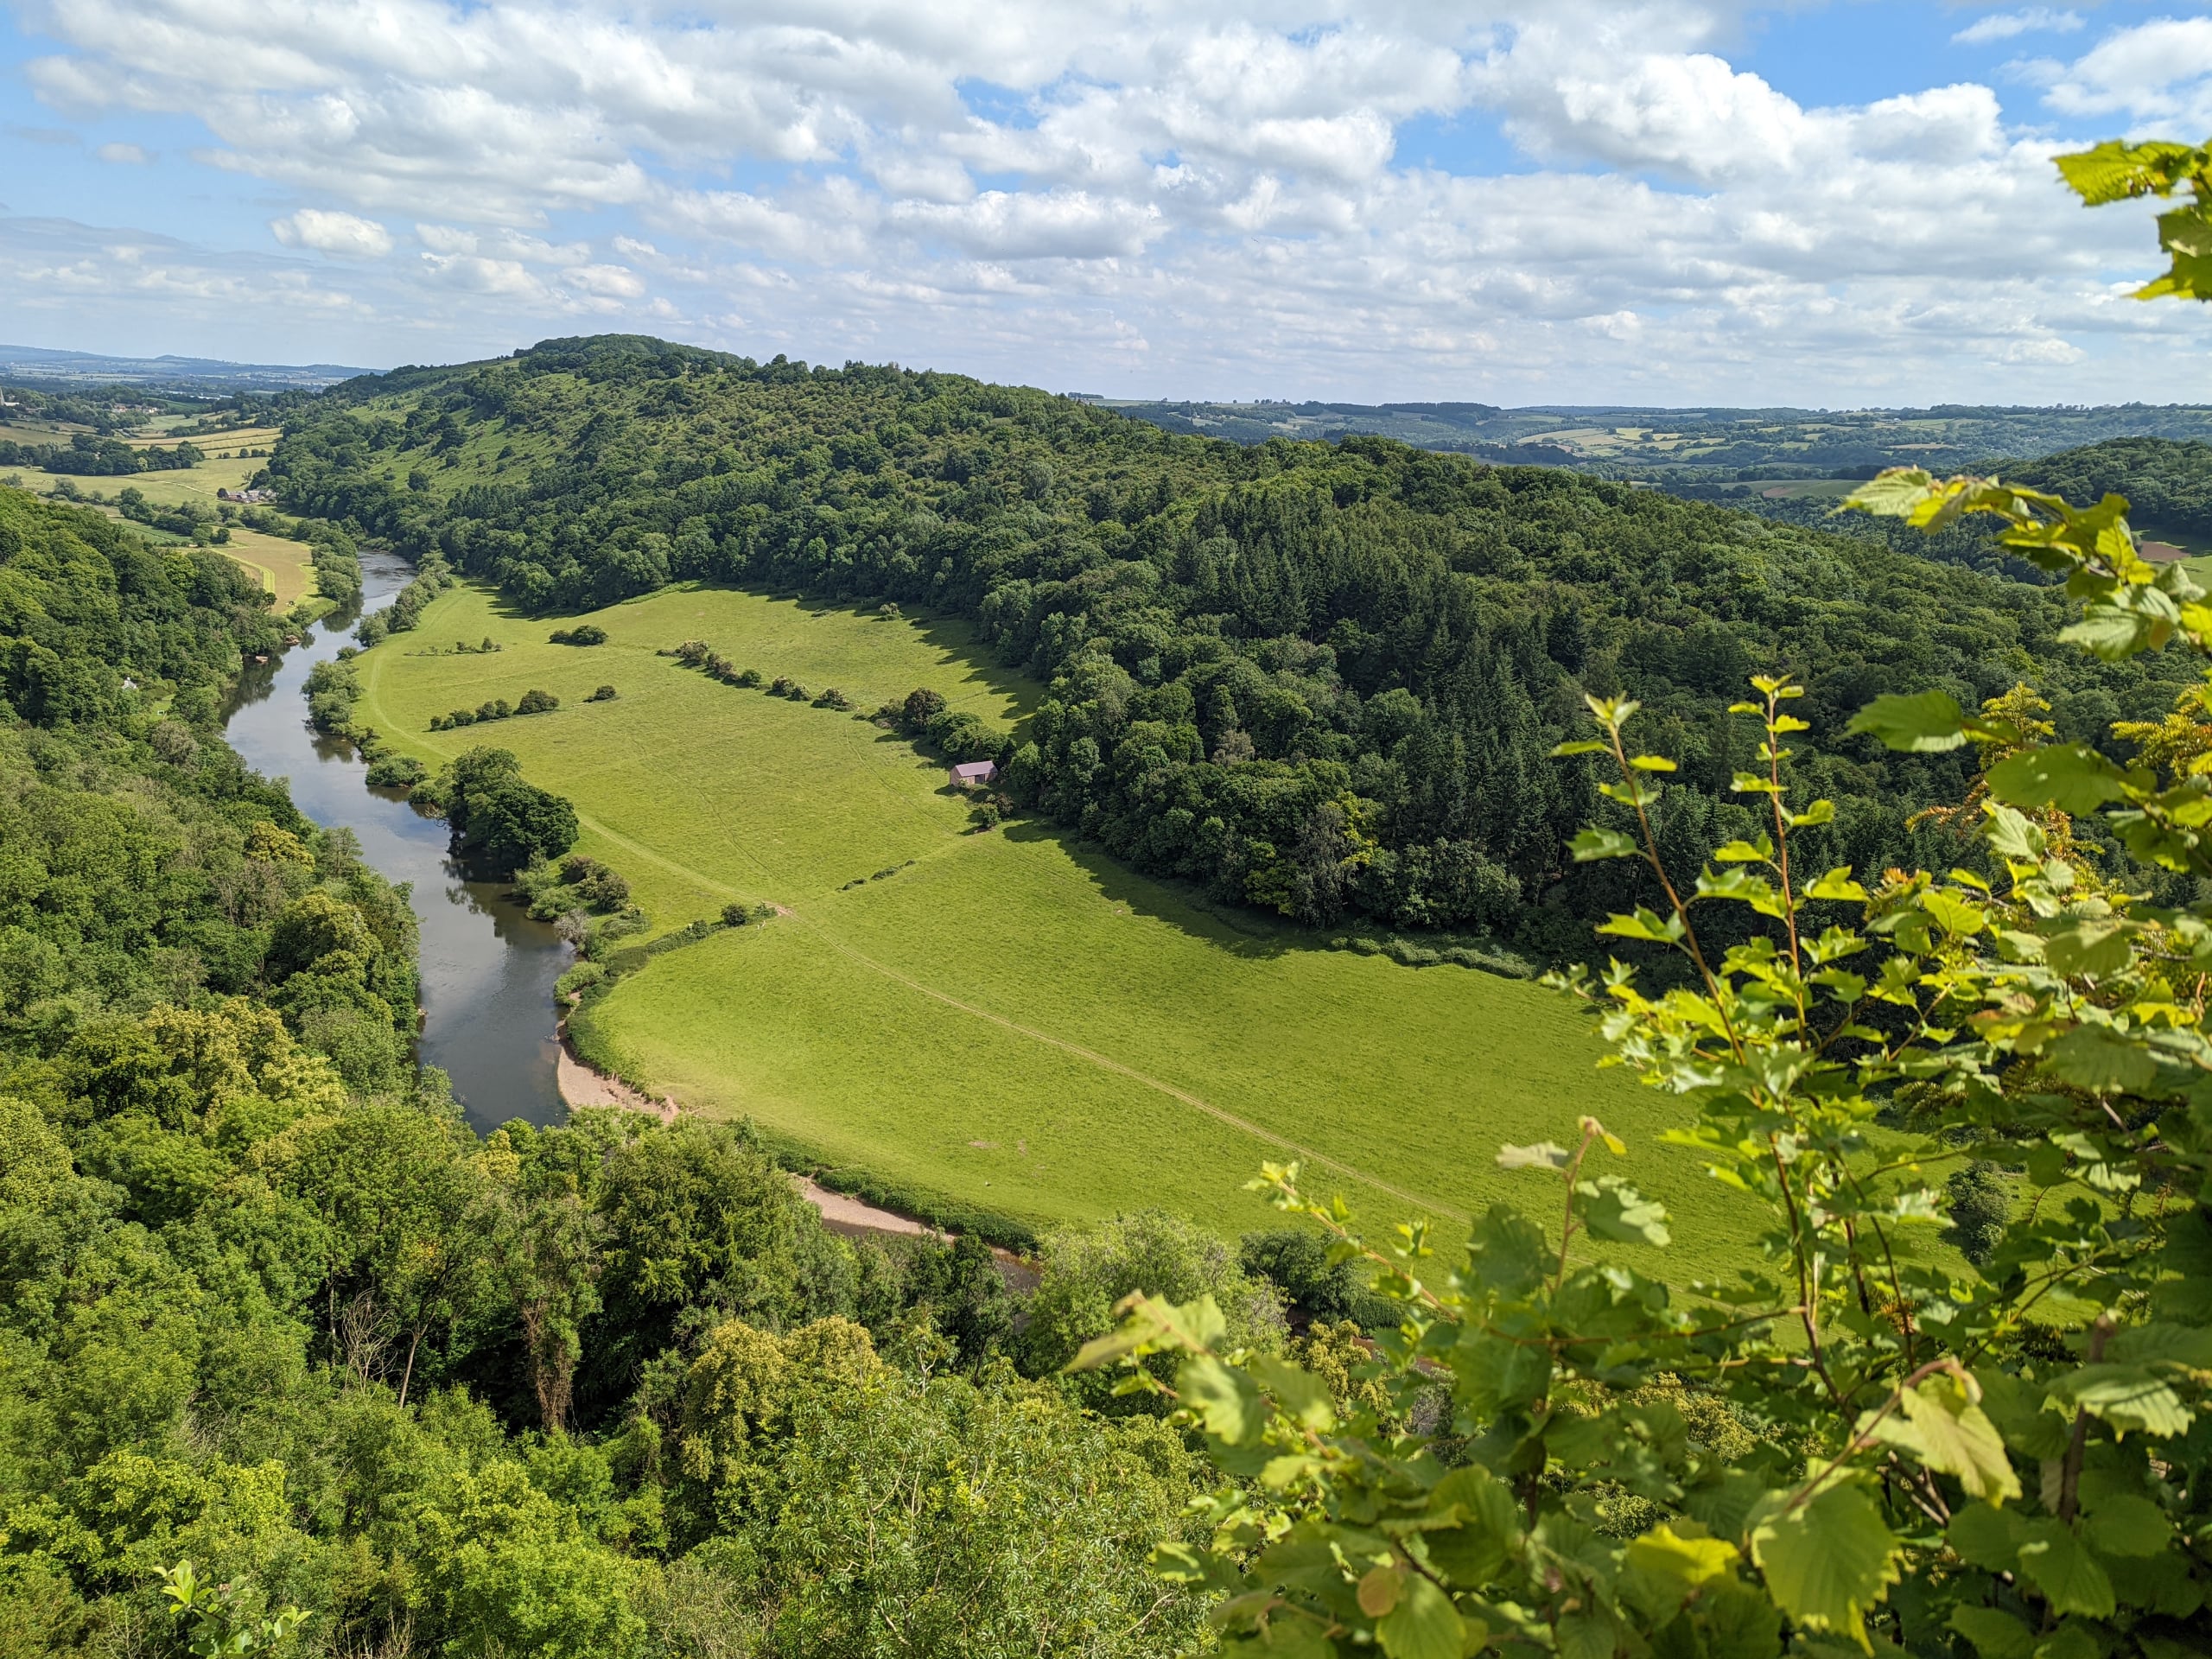
[[[283,1608],[285,1652],[1188,1650],[1146,1557],[1192,1451],[1033,1378],[1139,1287],[1345,1378],[1285,1307],[1356,1312],[1347,1270],[1150,1214],[1018,1301],[975,1241],[825,1232],[730,1128],[478,1139],[409,1053],[405,896],[219,734],[279,628],[0,489],[0,1655],[261,1652]]]

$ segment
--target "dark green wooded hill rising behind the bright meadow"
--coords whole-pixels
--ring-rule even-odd
[[[1219,898],[1537,956],[1582,949],[1632,880],[1566,856],[1601,812],[1586,763],[1548,759],[1584,692],[1639,697],[1681,757],[1666,836],[1692,869],[1745,823],[1725,790],[1754,737],[1725,701],[1801,672],[1838,807],[1809,856],[1882,867],[1916,836],[1922,863],[1973,856],[1907,830],[1971,772],[1836,737],[1876,692],[2033,679],[2101,737],[2188,677],[2057,650],[2055,591],[1659,491],[622,336],[347,383],[270,473],[292,511],[544,613],[719,580],[973,617],[1051,684],[1022,741],[958,739],[1020,805]]]

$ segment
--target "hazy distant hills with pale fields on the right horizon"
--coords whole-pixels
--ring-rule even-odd
[[[1256,445],[1374,434],[1420,449],[1659,484],[1871,478],[1882,467],[1960,471],[2108,438],[2212,438],[2212,407],[2101,409],[1650,409],[1486,403],[1124,403],[1088,398],[1168,431]]]

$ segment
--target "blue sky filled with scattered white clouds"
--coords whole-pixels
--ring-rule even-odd
[[[2205,4],[0,0],[0,341],[1121,398],[2212,400]]]

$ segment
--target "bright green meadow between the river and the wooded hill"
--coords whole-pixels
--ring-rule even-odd
[[[1597,1073],[1553,993],[1318,949],[1042,827],[967,834],[911,745],[653,655],[699,637],[863,708],[931,684],[1018,719],[1037,688],[982,666],[962,626],[701,588],[593,622],[611,644],[551,646],[557,624],[458,588],[367,653],[358,717],[427,761],[511,748],[661,929],[730,898],[785,911],[657,956],[593,1006],[626,1071],[686,1108],[1029,1221],[1166,1203],[1230,1232],[1265,1225],[1241,1186],[1285,1157],[1374,1219],[1458,1221],[1509,1194],[1548,1210],[1495,1150],[1595,1113],[1677,1212],[1679,1270],[1743,1259],[1750,1219],[1655,1146],[1668,1102]],[[487,635],[500,653],[451,655]],[[597,684],[619,701],[582,703]],[[531,686],[562,708],[427,730]]]

